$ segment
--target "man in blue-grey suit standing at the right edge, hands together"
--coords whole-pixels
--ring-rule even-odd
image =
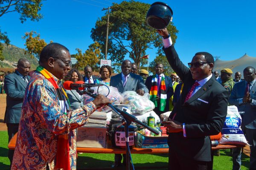
[[[256,170],[256,83],[255,68],[244,69],[245,81],[237,82],[228,100],[242,117],[242,130],[250,144],[250,170]],[[233,170],[241,169],[241,148],[233,149]]]

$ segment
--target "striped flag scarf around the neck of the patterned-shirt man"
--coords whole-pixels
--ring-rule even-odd
[[[49,80],[49,82],[52,83],[53,87],[57,91],[58,99],[59,99],[59,104],[61,106],[61,110],[64,110],[64,114],[67,115],[67,109],[65,105],[65,98],[68,102],[68,105],[70,107],[70,102],[67,97],[66,92],[64,91],[63,88],[59,88],[57,82],[55,79],[52,77],[52,74],[50,74],[45,68],[42,66],[38,66],[36,69],[39,73],[41,73],[46,79]],[[63,97],[63,94],[65,98]],[[70,170],[70,153],[69,153],[69,142],[68,142],[68,135],[59,135],[58,136],[58,144],[57,144],[57,154],[56,154],[56,164],[55,168],[63,168],[64,170]]]

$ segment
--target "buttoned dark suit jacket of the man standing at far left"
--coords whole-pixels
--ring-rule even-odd
[[[30,76],[27,76],[28,80]],[[21,107],[27,83],[20,77],[17,71],[8,74],[4,79],[4,90],[6,92],[5,123],[19,123]]]

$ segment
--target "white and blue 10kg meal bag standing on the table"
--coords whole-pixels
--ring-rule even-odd
[[[227,107],[227,116],[221,130],[219,144],[248,144],[241,130],[241,116],[236,106]]]

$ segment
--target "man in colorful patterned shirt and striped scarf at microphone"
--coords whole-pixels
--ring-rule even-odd
[[[109,99],[99,95],[71,112],[60,84],[70,60],[68,49],[58,43],[41,51],[40,66],[25,91],[12,170],[76,169],[76,128]]]

